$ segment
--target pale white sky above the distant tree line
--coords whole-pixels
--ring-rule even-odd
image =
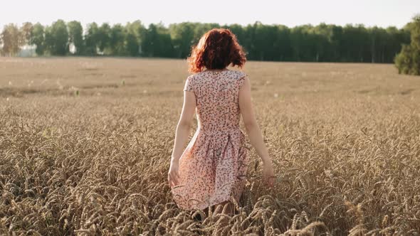
[[[25,21],[50,25],[61,18],[80,21],[83,26],[95,21],[110,24],[140,20],[145,26],[162,21],[183,21],[246,25],[283,24],[288,27],[310,23],[363,23],[364,26],[403,27],[420,13],[420,0],[16,0],[0,5],[0,27]]]

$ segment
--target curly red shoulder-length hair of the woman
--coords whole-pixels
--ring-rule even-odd
[[[204,33],[187,58],[189,73],[199,73],[204,68],[224,69],[228,65],[242,68],[246,55],[236,36],[226,28],[213,28]]]

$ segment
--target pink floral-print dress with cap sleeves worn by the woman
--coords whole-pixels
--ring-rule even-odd
[[[184,91],[195,94],[197,129],[179,159],[179,185],[171,188],[179,208],[204,210],[231,197],[239,201],[248,167],[238,104],[246,76],[204,70],[187,77]]]

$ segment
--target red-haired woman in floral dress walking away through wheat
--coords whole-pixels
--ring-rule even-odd
[[[192,48],[188,62],[193,75],[187,77],[184,85],[184,104],[168,172],[169,186],[179,208],[206,210],[233,199],[238,203],[248,167],[240,115],[251,144],[263,161],[263,181],[273,187],[273,166],[253,113],[249,79],[241,71],[227,69],[229,65],[242,68],[246,62],[236,36],[229,29],[208,31]],[[197,130],[182,151],[194,112]],[[234,214],[233,204],[226,209],[228,214]]]

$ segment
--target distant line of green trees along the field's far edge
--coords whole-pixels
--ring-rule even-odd
[[[36,55],[110,55],[187,58],[191,45],[211,28],[229,28],[246,50],[248,60],[393,63],[401,45],[410,43],[404,28],[336,26],[320,23],[289,28],[256,23],[162,23],[144,26],[141,21],[122,25],[55,21],[51,26],[23,23],[4,26],[1,55],[16,55],[23,45],[35,45]],[[2,46],[1,46],[2,45]]]

